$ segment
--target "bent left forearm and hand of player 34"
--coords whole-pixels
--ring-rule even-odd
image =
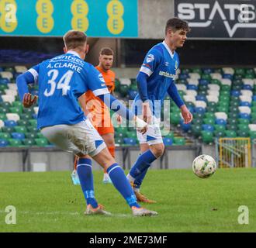
[[[16,84],[19,92],[19,98],[22,101],[22,105],[25,108],[31,107],[33,104],[36,103],[37,96],[34,97],[29,93],[28,84],[34,83],[33,74],[27,71],[24,74],[19,75],[16,78]]]

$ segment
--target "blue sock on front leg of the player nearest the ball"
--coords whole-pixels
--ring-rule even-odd
[[[133,167],[130,170],[130,173],[128,174],[128,178],[133,179],[133,181],[136,180],[137,177],[139,177],[144,171],[147,172],[147,169],[150,167],[150,164],[156,160],[157,157],[154,156],[154,154],[151,152],[151,150],[147,150],[144,153],[142,153],[138,158]],[[144,175],[145,176],[145,175]],[[144,177],[140,177],[140,179],[144,179]],[[141,184],[141,183],[140,183]]]

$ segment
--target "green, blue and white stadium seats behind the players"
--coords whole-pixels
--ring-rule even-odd
[[[27,68],[22,65],[1,68],[0,146],[49,146],[36,129],[38,106],[22,108],[19,101],[15,79]],[[213,143],[218,137],[256,139],[255,73],[253,68],[182,69],[176,85],[194,119],[184,124],[179,109],[171,101],[170,123],[175,131],[163,136],[164,144],[184,145],[189,139]],[[30,91],[38,94],[38,86]],[[137,94],[137,82],[134,78],[116,79],[115,91],[127,102]],[[115,140],[120,146],[138,145],[133,128],[116,128]]]

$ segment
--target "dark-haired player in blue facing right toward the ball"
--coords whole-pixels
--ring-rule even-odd
[[[137,74],[138,94],[133,101],[133,112],[150,123],[146,133],[137,132],[140,142],[140,157],[127,175],[133,185],[138,202],[155,202],[140,193],[140,185],[150,164],[164,153],[159,105],[163,104],[166,93],[180,108],[184,122],[192,121],[192,114],[182,101],[175,86],[175,76],[179,67],[178,53],[175,50],[178,47],[183,47],[188,32],[187,22],[178,18],[168,19],[164,41],[149,50],[140,67],[140,72]]]

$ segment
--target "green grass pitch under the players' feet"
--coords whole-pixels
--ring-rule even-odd
[[[200,179],[192,170],[150,170],[142,192],[157,201],[143,206],[154,217],[133,217],[112,184],[94,171],[95,196],[112,212],[86,216],[80,186],[71,171],[0,173],[0,232],[255,232],[256,170],[219,169]],[[16,224],[5,223],[5,207],[16,207]],[[249,209],[249,224],[237,221],[240,205]]]

